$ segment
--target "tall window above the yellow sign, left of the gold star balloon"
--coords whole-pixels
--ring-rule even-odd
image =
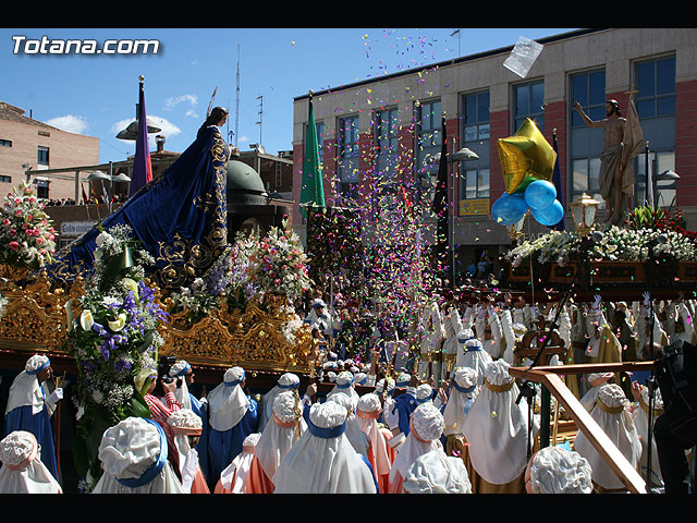
[[[460,199],[489,198],[489,92],[462,95],[462,147],[479,159],[461,161]],[[462,214],[462,205],[460,214]],[[487,202],[488,209],[488,202]],[[473,211],[476,211],[475,208]],[[480,210],[480,209],[479,209]],[[470,214],[465,211],[465,214]]]

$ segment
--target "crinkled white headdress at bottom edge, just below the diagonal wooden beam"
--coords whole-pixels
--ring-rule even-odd
[[[590,463],[563,447],[545,447],[525,469],[526,494],[591,494]]]

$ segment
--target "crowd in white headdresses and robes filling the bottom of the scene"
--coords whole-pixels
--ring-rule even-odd
[[[150,376],[145,399],[151,416],[105,431],[103,474],[94,492],[626,491],[583,431],[572,445],[540,448],[539,394],[521,398],[521,384],[510,373],[530,363],[517,348],[533,332],[534,348],[545,336],[567,348],[551,364],[650,360],[644,350],[651,339],[647,315],[653,312],[658,345],[695,343],[696,303],[681,296],[652,304],[648,294],[641,302],[607,302],[596,295],[558,313],[555,303],[480,291],[435,295],[407,323],[378,316],[365,323],[363,341],[346,328],[358,324],[355,309],[338,314],[340,302],[315,297],[305,321],[319,335],[321,357],[305,390],[299,376],[285,373],[271,390],[253,396],[245,369],[231,367],[221,384],[196,398],[192,366],[170,362],[166,374]],[[47,394],[50,375],[48,357],[35,355],[12,385],[0,491],[61,491],[49,418],[62,393]],[[647,434],[661,413],[660,391],[644,378],[566,377],[624,458],[668,491],[660,449]],[[318,384],[329,392],[320,394]]]

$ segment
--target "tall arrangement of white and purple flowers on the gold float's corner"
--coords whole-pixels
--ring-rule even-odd
[[[75,463],[87,484],[100,474],[96,435],[127,416],[149,416],[136,377],[157,367],[163,343],[158,328],[167,321],[157,289],[145,280],[145,267],[155,260],[138,248],[131,228],[102,231],[96,243],[94,272],[75,299],[80,316],[69,313],[65,341],[78,373]]]

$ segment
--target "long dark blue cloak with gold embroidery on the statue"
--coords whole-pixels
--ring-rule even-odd
[[[229,148],[216,126],[207,127],[162,174],[135,193],[56,255],[49,277],[70,282],[93,269],[101,230],[130,226],[156,267],[160,289],[179,290],[200,277],[228,244]]]

